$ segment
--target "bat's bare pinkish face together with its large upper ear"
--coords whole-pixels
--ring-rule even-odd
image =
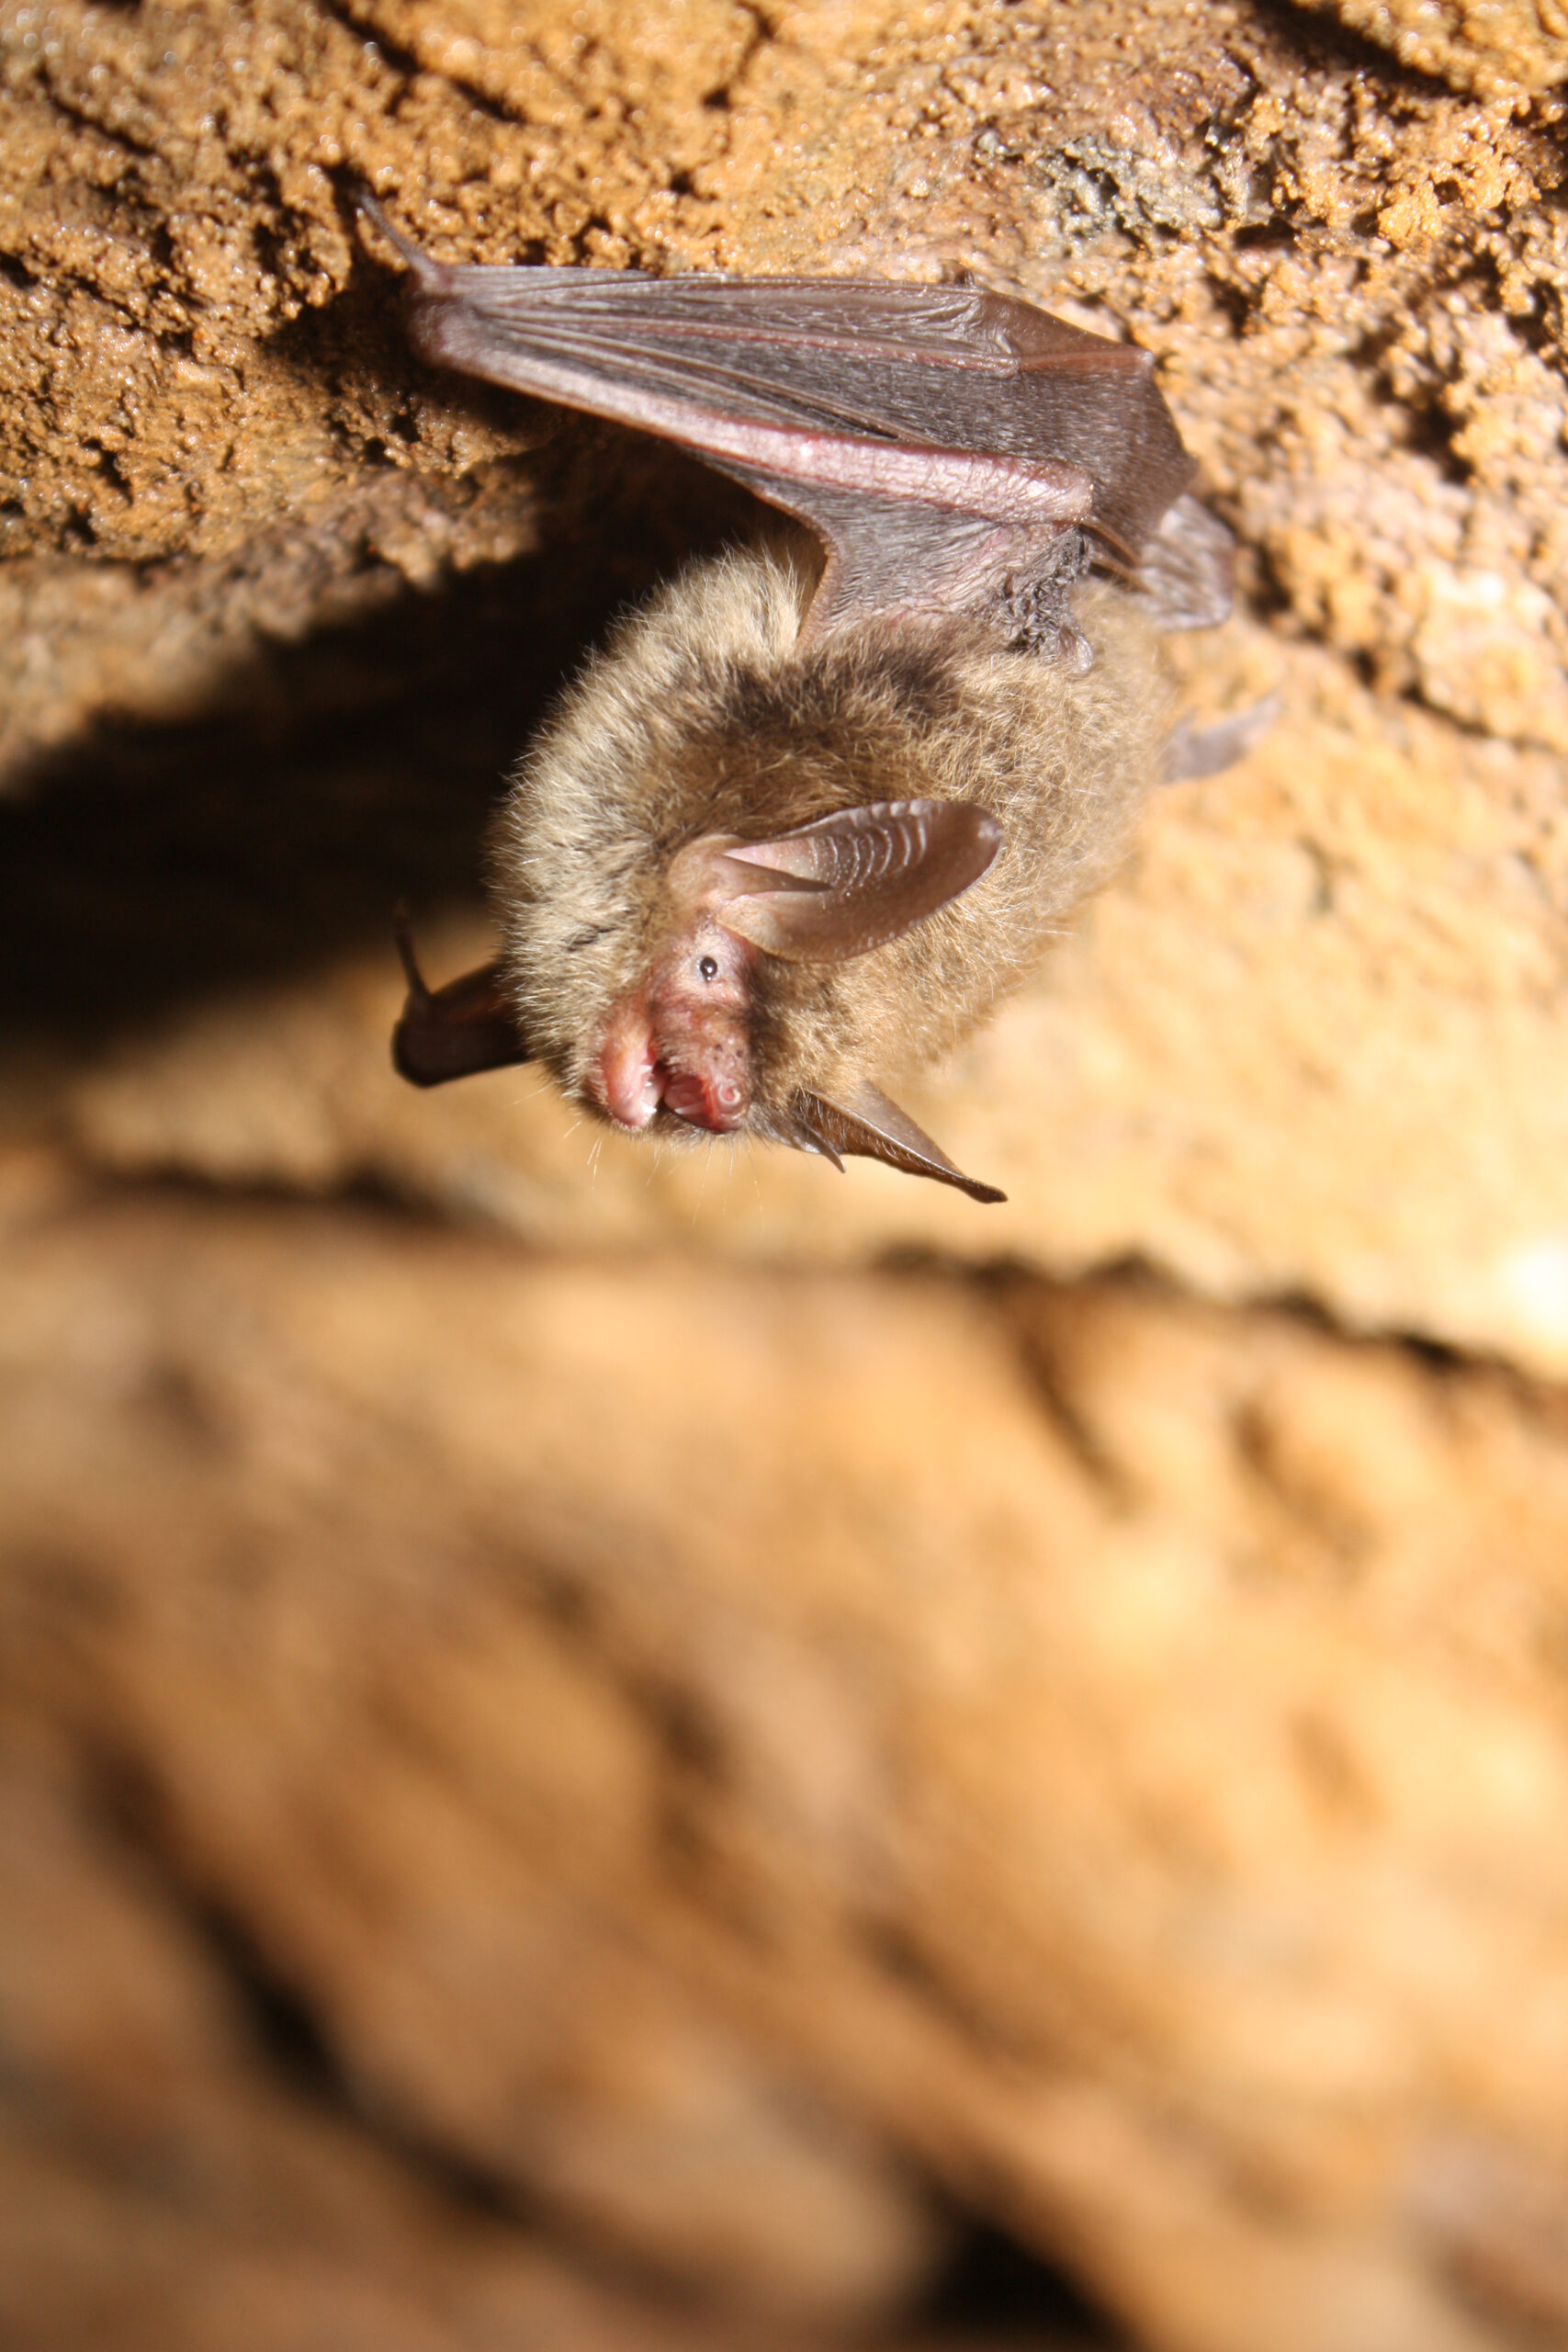
[[[788,967],[870,955],[978,882],[999,849],[997,818],[952,800],[882,800],[776,840],[684,844],[663,873],[649,967],[590,1047],[588,1098],[632,1131],[661,1110],[733,1134],[764,1108],[776,1127],[785,1105],[759,1105],[764,971],[776,1000]]]

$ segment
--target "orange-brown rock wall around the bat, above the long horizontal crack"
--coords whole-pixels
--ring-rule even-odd
[[[49,786],[5,955],[96,1035],[148,985],[183,1009],[85,1089],[61,1070],[49,1120],[574,1244],[696,1216],[766,1254],[1138,1254],[1568,1369],[1556,96],[1427,87],[1309,16],[1145,5],[1133,33],[1112,0],[0,21],[0,663],[12,774]],[[393,1105],[386,990],[360,1018],[369,981],[320,974],[374,938],[390,978],[390,901],[473,889],[574,644],[733,499],[421,369],[355,181],[444,254],[969,268],[1157,353],[1274,621],[1182,647],[1185,689],[1279,682],[1288,713],[1152,814],[917,1105],[1009,1211],[614,1141],[585,1190],[590,1138],[505,1080]],[[115,710],[148,724],[106,736]],[[200,858],[148,854],[153,795]],[[289,967],[315,976],[268,997]]]

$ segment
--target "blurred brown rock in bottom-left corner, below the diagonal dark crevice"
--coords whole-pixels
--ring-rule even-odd
[[[0,1748],[7,2347],[788,2352],[574,2274],[320,2070],[280,2079],[110,1759],[14,1708]]]

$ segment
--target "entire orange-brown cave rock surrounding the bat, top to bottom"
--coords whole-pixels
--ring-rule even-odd
[[[1568,2343],[1556,16],[0,0],[7,2343]],[[1157,355],[1286,715],[912,1105],[1006,1209],[393,1082],[745,510],[357,183]]]

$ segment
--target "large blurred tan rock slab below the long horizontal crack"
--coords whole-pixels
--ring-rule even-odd
[[[1568,1416],[1140,1284],[33,1211],[7,1705],[395,2140],[844,2321],[1568,2328]]]

